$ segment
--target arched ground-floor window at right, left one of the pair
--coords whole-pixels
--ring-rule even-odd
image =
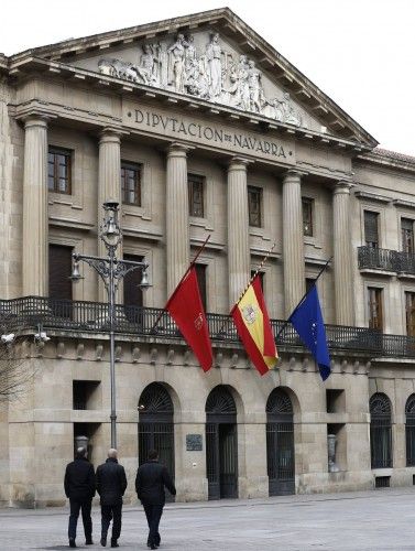
[[[392,467],[392,408],[386,395],[376,392],[369,402],[372,468]]]

